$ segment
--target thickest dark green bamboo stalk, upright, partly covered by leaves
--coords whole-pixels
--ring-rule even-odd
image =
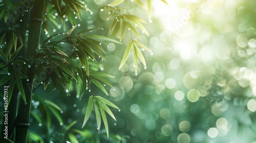
[[[30,11],[28,45],[26,49],[26,53],[27,53],[26,55],[28,56],[34,54],[39,45],[43,9],[44,9],[44,1],[37,0],[32,6]],[[20,99],[18,114],[16,118],[15,142],[17,143],[27,142],[27,138],[28,138],[31,99],[32,99],[32,91],[33,91],[33,77],[34,77],[33,71],[29,69],[27,75],[28,75],[28,81],[23,80],[23,87],[25,90],[27,103],[25,103],[24,100]]]

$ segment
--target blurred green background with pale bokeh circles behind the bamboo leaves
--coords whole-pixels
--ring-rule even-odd
[[[132,54],[118,70],[125,44],[129,42],[125,36],[123,45],[109,43],[105,47],[106,62],[99,59],[95,63],[96,70],[116,77],[109,78],[113,88],[105,87],[110,96],[96,91],[96,86],[94,91],[120,108],[120,111],[113,109],[117,122],[108,116],[109,140],[103,128],[98,133],[94,113],[81,129],[89,91],[80,100],[75,90],[67,96],[65,91],[57,92],[50,86],[46,91],[39,87],[36,94],[43,93],[43,100],[53,101],[62,109],[63,123],[53,117],[47,133],[46,126],[31,117],[30,131],[49,142],[65,142],[71,132],[65,128],[76,120],[72,128],[83,134],[74,130],[72,134],[78,140],[86,138],[86,142],[255,143],[256,1],[166,2],[168,5],[152,1],[151,20],[147,8],[138,7],[133,1],[120,4],[148,22],[144,26],[150,36],[141,33],[141,39],[153,54],[143,53],[147,66],[140,63],[138,74],[134,72]],[[101,11],[100,7],[109,3],[88,2],[93,14],[84,12],[76,31],[100,27],[102,31],[92,33],[108,36],[111,25],[106,21],[108,11]],[[60,23],[57,18],[56,21]],[[62,28],[59,24],[59,29]],[[42,37],[55,31],[56,27],[49,27]],[[39,102],[35,98],[32,103],[33,112],[40,116]]]

